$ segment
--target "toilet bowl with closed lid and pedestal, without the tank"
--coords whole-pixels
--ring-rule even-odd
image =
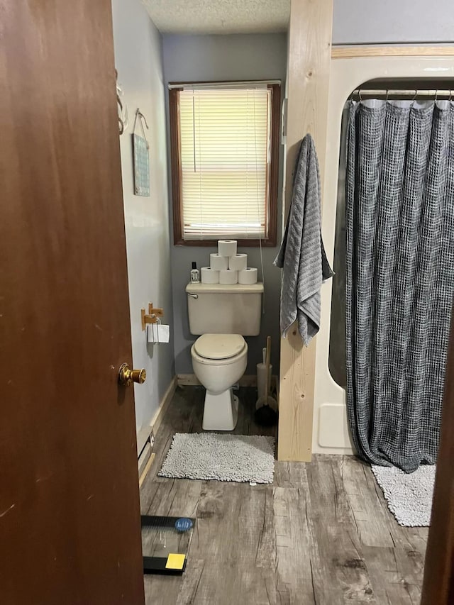
[[[238,397],[233,384],[243,376],[248,345],[239,334],[203,334],[191,348],[192,367],[206,388],[204,431],[233,431],[238,420]]]

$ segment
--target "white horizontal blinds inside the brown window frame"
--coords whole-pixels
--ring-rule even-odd
[[[183,239],[264,238],[271,91],[179,91]]]

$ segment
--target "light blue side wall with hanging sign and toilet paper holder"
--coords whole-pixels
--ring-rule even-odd
[[[148,345],[140,309],[165,309],[172,323],[170,235],[167,193],[167,135],[162,73],[162,39],[140,0],[113,0],[115,64],[123,87],[129,126],[120,137],[131,338],[134,367],[145,367],[145,384],[134,385],[137,428],[148,426],[174,375],[173,343]],[[135,110],[148,121],[150,196],[134,195],[131,133]]]

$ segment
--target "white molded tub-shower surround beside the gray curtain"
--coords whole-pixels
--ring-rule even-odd
[[[336,276],[328,279],[321,288],[321,326],[316,343],[313,453],[354,453],[345,396],[345,224],[342,218],[345,216],[345,174],[343,162],[341,169],[339,166],[339,150],[345,101],[354,89],[375,78],[453,79],[453,57],[392,56],[331,60],[322,235]]]

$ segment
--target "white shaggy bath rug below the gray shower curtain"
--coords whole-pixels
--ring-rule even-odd
[[[372,465],[388,508],[404,527],[428,527],[431,523],[435,465],[421,465],[405,473],[397,467]]]

